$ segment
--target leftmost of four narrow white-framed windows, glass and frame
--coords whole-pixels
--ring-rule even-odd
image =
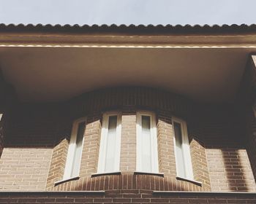
[[[86,127],[86,118],[75,120],[69,141],[67,162],[64,171],[64,179],[79,176],[80,160],[83,150],[83,135]]]

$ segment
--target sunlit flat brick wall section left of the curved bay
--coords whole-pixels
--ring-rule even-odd
[[[42,191],[52,149],[4,148],[0,160],[0,191]]]

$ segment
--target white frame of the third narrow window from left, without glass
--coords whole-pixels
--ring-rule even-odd
[[[142,172],[141,146],[142,144],[142,116],[150,117],[150,133],[151,133],[151,170],[146,173],[159,173],[158,151],[157,151],[157,120],[156,115],[150,111],[138,111],[136,114],[136,171]]]

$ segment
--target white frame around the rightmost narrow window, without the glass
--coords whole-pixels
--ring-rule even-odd
[[[177,122],[181,125],[181,137],[182,137],[182,152],[184,155],[184,165],[185,165],[185,178],[189,180],[193,180],[193,168],[192,168],[192,160],[191,160],[191,154],[190,154],[190,147],[189,147],[189,137],[187,134],[187,122],[183,119],[172,117],[172,124],[173,124],[173,141],[174,141],[174,154],[176,159],[176,173],[178,177],[184,178],[184,176],[180,176],[178,172],[178,160],[176,156],[176,138],[175,138],[175,132],[174,132],[174,122]]]

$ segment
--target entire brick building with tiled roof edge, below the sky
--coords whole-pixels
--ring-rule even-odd
[[[256,203],[255,26],[0,25],[0,203]]]

